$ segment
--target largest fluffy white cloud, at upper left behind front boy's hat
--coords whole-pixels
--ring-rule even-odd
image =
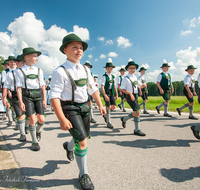
[[[43,69],[44,74],[52,73],[53,69],[63,63],[66,59],[60,51],[62,39],[69,33],[77,34],[82,40],[90,39],[87,28],[73,26],[73,31],[68,32],[63,28],[52,25],[45,30],[41,20],[36,19],[34,13],[26,12],[23,16],[16,18],[8,26],[8,32],[0,32],[0,53],[7,57],[14,53],[21,54],[25,47],[34,47],[42,51],[37,66]],[[91,57],[91,55],[89,55]]]

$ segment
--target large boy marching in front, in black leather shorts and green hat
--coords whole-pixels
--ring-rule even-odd
[[[90,135],[88,93],[97,102],[100,113],[105,114],[106,111],[94,86],[90,70],[80,64],[83,51],[87,47],[88,44],[75,34],[63,38],[60,51],[67,56],[67,59],[53,72],[50,99],[61,129],[69,130],[73,137],[70,142],[63,144],[67,158],[72,161],[74,151],[79,168],[80,185],[82,189],[92,190],[94,185],[87,170],[87,139]]]

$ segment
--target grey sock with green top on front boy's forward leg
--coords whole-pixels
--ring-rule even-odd
[[[79,168],[79,176],[82,177],[84,174],[88,174],[87,170],[87,148],[85,150],[75,150],[75,158]]]

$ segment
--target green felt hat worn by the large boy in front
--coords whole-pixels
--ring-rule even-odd
[[[88,47],[88,44],[86,42],[82,41],[76,34],[68,34],[62,40],[62,45],[60,46],[60,51],[62,53],[64,53],[63,52],[64,48],[71,42],[82,42],[83,51],[85,51]]]

